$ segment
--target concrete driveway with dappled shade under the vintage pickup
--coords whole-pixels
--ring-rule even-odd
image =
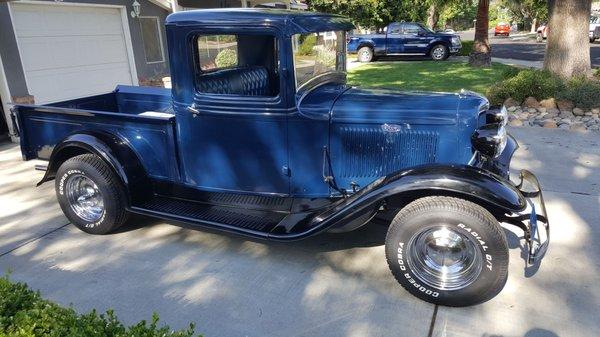
[[[114,308],[127,323],[157,311],[205,336],[590,336],[600,329],[600,136],[513,129],[513,169],[538,174],[552,245],[526,268],[518,235],[510,276],[469,308],[421,302],[384,260],[386,228],[275,244],[134,218],[90,236],[61,215],[53,184],[18,147],[0,146],[0,271],[80,312]]]

